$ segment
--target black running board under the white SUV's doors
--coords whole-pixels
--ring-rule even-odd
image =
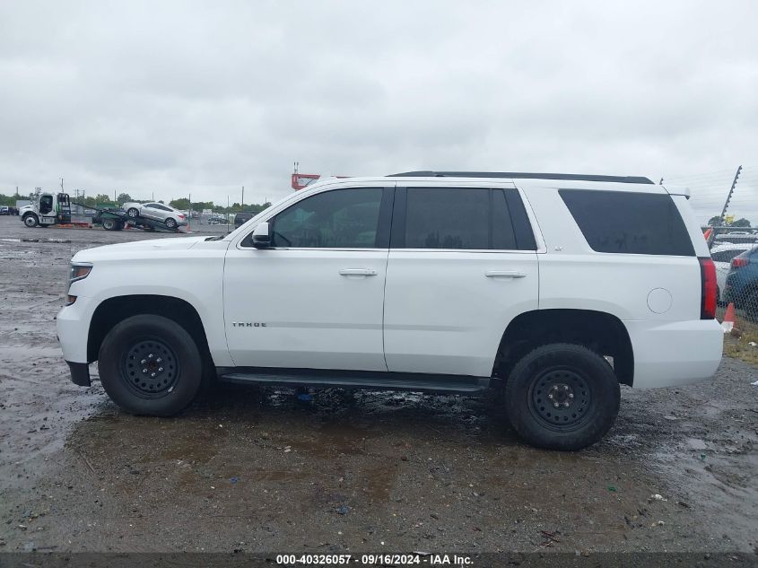
[[[222,382],[256,384],[267,387],[323,389],[405,390],[436,394],[475,395],[490,388],[489,377],[432,375],[422,373],[315,371],[310,369],[273,371],[220,367]]]

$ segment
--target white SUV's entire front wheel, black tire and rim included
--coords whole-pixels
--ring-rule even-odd
[[[126,412],[170,416],[196,397],[204,365],[184,328],[162,316],[141,314],[119,322],[105,336],[98,368],[108,396]]]

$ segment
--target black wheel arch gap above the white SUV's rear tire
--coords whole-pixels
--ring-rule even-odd
[[[518,360],[540,345],[573,343],[613,357],[616,377],[632,386],[634,353],[621,319],[597,310],[531,310],[510,321],[502,334],[492,376],[507,380]]]

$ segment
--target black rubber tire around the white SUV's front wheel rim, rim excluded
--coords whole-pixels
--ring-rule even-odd
[[[145,338],[166,343],[179,362],[176,384],[161,398],[140,398],[127,386],[122,373],[126,351]],[[192,336],[178,323],[144,314],[124,319],[109,331],[100,346],[98,370],[103,389],[126,412],[170,416],[181,412],[196,397],[202,382],[203,360]]]

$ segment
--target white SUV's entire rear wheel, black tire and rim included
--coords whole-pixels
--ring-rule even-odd
[[[548,450],[581,450],[600,440],[620,400],[610,364],[582,345],[537,347],[516,363],[505,386],[510,424],[529,444]]]

